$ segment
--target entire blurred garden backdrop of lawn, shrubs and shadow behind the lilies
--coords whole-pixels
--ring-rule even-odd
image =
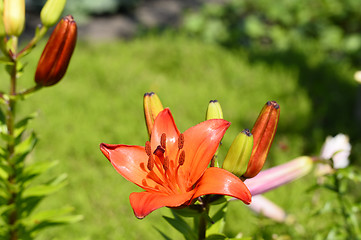
[[[44,1],[27,1],[24,42],[33,35]],[[79,41],[65,78],[31,96],[21,114],[36,112],[40,141],[29,161],[57,161],[45,178],[68,174],[68,185],[40,208],[74,207],[84,220],[47,230],[39,239],[159,239],[181,236],[163,208],[134,217],[125,181],[99,144],[144,145],[143,94],[154,91],[181,131],[204,120],[217,99],[232,122],[220,158],[236,134],[252,128],[262,106],[281,106],[279,128],[265,168],[300,155],[319,155],[329,135],[349,135],[351,164],[360,165],[361,15],[358,0],[69,0],[64,15],[79,23]],[[27,56],[21,86],[33,84],[45,41]],[[1,76],[5,76],[2,73]],[[292,216],[279,224],[232,202],[226,230],[254,239],[325,239],[332,213],[315,214],[335,196],[308,191],[313,174],[266,196]],[[350,198],[361,200],[358,186]],[[324,200],[324,201],[323,201]]]

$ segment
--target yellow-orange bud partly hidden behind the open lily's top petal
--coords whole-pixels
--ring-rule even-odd
[[[143,99],[144,117],[149,136],[152,134],[154,120],[164,108],[157,94],[154,92],[144,94]]]

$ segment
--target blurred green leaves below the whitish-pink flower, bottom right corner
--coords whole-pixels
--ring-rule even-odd
[[[361,186],[361,171],[347,167],[321,177],[321,183],[311,188],[312,191],[331,191],[334,198],[326,202],[317,202],[314,217],[330,216],[331,223],[320,228],[315,237],[319,239],[360,239],[361,205],[350,192]],[[310,189],[310,191],[311,191]]]

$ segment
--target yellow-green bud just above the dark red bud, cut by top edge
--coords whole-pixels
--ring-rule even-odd
[[[64,10],[66,0],[47,0],[40,12],[40,19],[44,26],[53,26]]]

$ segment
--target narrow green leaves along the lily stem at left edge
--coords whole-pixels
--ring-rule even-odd
[[[3,112],[0,115],[3,116]],[[13,141],[15,147],[13,156],[10,157],[8,157],[9,150],[5,148],[5,145],[12,138],[6,133],[6,126],[2,127],[3,135],[8,137],[5,137],[2,142],[3,156],[0,161],[1,239],[8,239],[10,232],[16,229],[19,239],[30,240],[46,227],[76,222],[81,219],[81,216],[70,215],[69,208],[38,211],[33,214],[47,195],[63,188],[66,183],[64,174],[47,182],[34,182],[34,179],[54,167],[55,162],[25,164],[26,158],[37,142],[36,135],[26,131],[29,121],[33,118],[32,114],[15,124],[15,140]],[[2,118],[0,117],[0,119]],[[5,124],[4,121],[1,123]],[[10,160],[7,161],[7,158]],[[15,222],[12,219],[15,219]]]

